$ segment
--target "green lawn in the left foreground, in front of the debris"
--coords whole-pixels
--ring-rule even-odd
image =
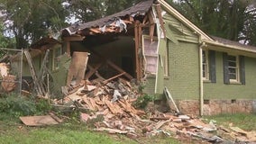
[[[6,113],[0,113],[0,143],[21,144],[151,144],[151,143],[180,143],[177,139],[167,137],[152,137],[129,139],[124,135],[108,134],[89,130],[84,123],[75,121],[44,127],[25,126],[18,118]]]

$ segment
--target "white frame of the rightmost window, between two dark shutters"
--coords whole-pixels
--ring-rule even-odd
[[[234,57],[235,61],[231,60],[230,57]],[[238,55],[234,55],[234,54],[228,54],[228,58],[227,58],[227,62],[228,62],[228,75],[229,75],[229,81],[230,83],[237,83],[240,82],[240,67],[239,67],[239,56]],[[235,67],[230,66],[230,63],[234,62],[235,63]],[[230,69],[233,68],[235,69],[235,78],[231,78],[231,72]]]

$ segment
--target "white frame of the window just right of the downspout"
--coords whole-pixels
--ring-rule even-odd
[[[205,57],[204,57],[204,53],[205,53]],[[208,49],[202,50],[202,70],[203,70],[202,72],[203,80],[209,80],[209,50]]]

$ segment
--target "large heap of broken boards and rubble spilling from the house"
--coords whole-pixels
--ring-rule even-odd
[[[149,113],[138,110],[133,107],[133,102],[139,96],[136,88],[123,78],[117,79],[109,82],[87,81],[83,83],[87,85],[79,85],[75,92],[71,90],[72,94],[64,98],[64,104],[72,102],[70,106],[86,110],[80,112],[80,121],[87,122],[95,130],[125,134],[132,139],[163,133],[183,138],[196,137],[214,143],[226,141],[218,136],[218,132],[222,131],[230,136],[230,140],[255,141],[251,133],[246,133],[246,136],[241,131],[224,131],[224,128],[215,125],[215,121],[206,123],[191,115],[175,115],[156,109]]]

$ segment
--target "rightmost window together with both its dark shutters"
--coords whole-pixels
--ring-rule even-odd
[[[224,84],[245,85],[244,57],[224,53]]]

